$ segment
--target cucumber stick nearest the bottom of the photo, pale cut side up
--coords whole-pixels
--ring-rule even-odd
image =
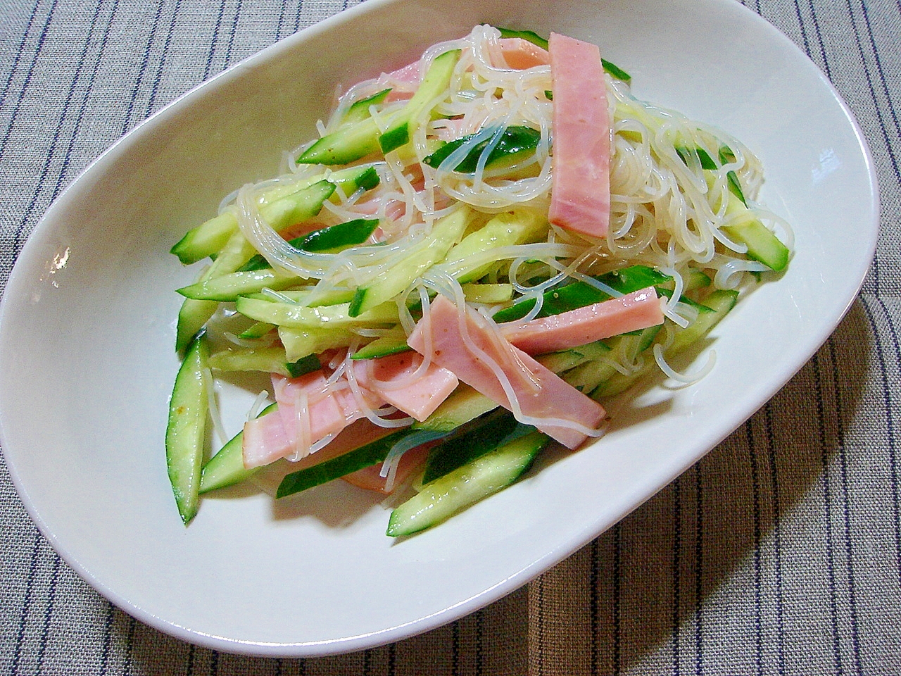
[[[532,466],[550,441],[540,432],[526,434],[426,484],[391,512],[387,535],[417,533],[505,489]]]

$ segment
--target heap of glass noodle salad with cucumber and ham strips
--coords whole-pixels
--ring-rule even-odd
[[[670,362],[786,268],[791,228],[742,142],[630,84],[596,45],[478,25],[350,87],[177,242],[206,261],[177,289],[183,521],[241,481],[344,478],[405,498],[387,534],[413,534],[604,434],[646,374],[703,378],[712,351]],[[215,383],[238,371],[271,388],[226,439]]]

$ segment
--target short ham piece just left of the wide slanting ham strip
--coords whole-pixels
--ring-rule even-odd
[[[354,375],[360,387],[422,422],[460,383],[450,370],[434,362],[421,376],[411,380],[422,363],[422,356],[416,352],[399,352],[355,362]]]

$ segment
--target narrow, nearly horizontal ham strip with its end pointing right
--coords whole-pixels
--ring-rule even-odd
[[[657,324],[663,324],[663,310],[657,291],[649,287],[560,315],[518,325],[501,324],[501,333],[520,350],[544,354]]]

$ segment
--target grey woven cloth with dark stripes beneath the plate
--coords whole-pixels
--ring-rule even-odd
[[[901,5],[746,4],[851,106],[882,204],[859,299],[756,415],[527,588],[425,635],[308,660],[215,653],[111,606],[44,541],[3,465],[0,673],[901,673]],[[348,5],[0,4],[0,284],[51,201],[123,133]]]

